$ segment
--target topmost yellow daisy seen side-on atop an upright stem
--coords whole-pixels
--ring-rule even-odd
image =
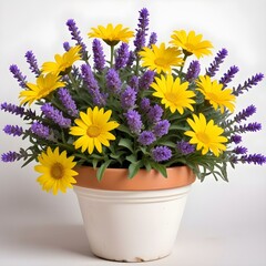
[[[130,38],[134,35],[133,31],[130,31],[129,28],[123,28],[122,24],[113,27],[113,24],[109,23],[105,28],[99,25],[91,29],[92,32],[88,33],[89,38],[100,38],[111,47],[116,45],[120,41],[127,43]]]

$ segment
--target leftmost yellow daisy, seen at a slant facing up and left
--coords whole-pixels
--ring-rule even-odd
[[[27,83],[28,89],[19,94],[19,98],[23,98],[20,104],[29,103],[31,105],[32,102],[45,98],[58,88],[64,86],[65,84],[59,80],[60,76],[54,74],[41,74],[37,78],[37,84]]]

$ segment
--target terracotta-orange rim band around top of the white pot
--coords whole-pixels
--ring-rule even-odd
[[[102,181],[96,180],[96,170],[91,166],[76,166],[75,186],[106,191],[156,191],[191,185],[196,176],[186,166],[167,167],[165,178],[155,170],[141,168],[133,178],[127,178],[127,168],[106,168]]]

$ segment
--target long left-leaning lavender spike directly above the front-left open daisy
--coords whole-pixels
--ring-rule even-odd
[[[100,92],[98,81],[94,78],[94,74],[89,64],[81,65],[82,79],[88,85],[89,93],[92,95],[93,103],[98,106],[104,106],[106,104],[108,95]]]

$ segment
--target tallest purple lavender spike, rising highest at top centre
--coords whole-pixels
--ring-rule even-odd
[[[141,51],[143,47],[145,47],[146,42],[146,32],[149,30],[149,11],[146,8],[140,11],[139,24],[136,29],[136,35],[134,40],[135,52]]]

